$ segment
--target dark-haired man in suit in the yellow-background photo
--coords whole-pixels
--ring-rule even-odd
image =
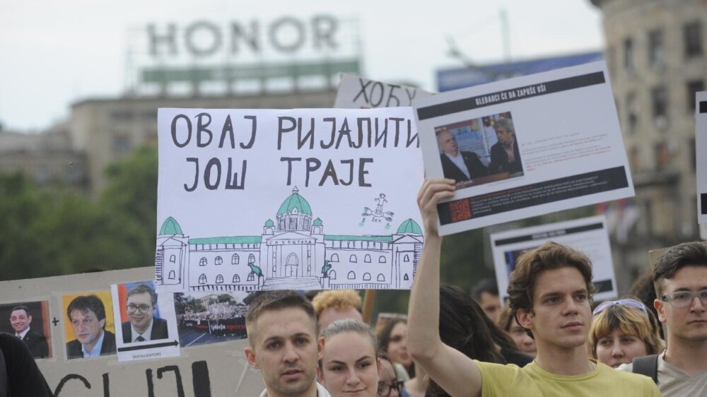
[[[66,343],[69,360],[115,354],[115,334],[105,330],[105,306],[99,297],[75,297],[66,307],[66,316],[76,337]]]

